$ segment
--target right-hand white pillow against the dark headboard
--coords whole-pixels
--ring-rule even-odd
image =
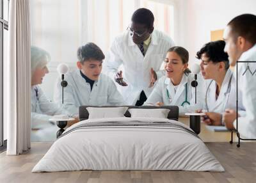
[[[170,109],[129,109],[128,111],[131,113],[131,118],[167,118]]]

